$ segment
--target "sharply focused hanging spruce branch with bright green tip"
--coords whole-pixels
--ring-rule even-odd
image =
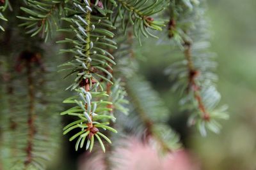
[[[66,38],[58,43],[72,43],[71,49],[61,50],[61,52],[74,54],[74,60],[64,66],[70,66],[72,69],[70,74],[76,73],[75,82],[68,89],[76,90],[78,95],[66,99],[64,103],[76,103],[78,106],[62,112],[61,115],[73,115],[79,120],[64,127],[63,134],[79,128],[81,131],[70,138],[72,141],[79,137],[76,150],[79,146],[83,148],[84,141],[87,139],[86,150],[90,148],[92,151],[96,137],[105,152],[101,138],[106,139],[108,143],[111,141],[100,132],[100,129],[116,132],[109,126],[109,122],[106,122],[106,120],[115,119],[109,115],[109,111],[112,110],[109,106],[112,103],[107,101],[109,94],[106,88],[106,83],[113,84],[112,67],[109,63],[115,64],[115,62],[108,49],[116,49],[116,43],[111,39],[114,36],[111,30],[115,27],[108,20],[107,7],[99,5],[99,1],[81,3],[74,0],[72,3],[71,7],[75,10],[66,8],[72,17],[63,18],[71,24],[70,29],[62,29],[62,31],[72,32],[76,38]]]

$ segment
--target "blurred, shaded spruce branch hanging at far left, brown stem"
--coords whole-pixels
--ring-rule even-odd
[[[13,60],[10,60],[10,63],[13,63]],[[49,86],[41,81],[46,74],[42,57],[39,53],[26,50],[20,53],[15,69],[18,73],[12,73],[13,101],[11,101],[15,103],[10,106],[12,113],[9,112],[10,109],[3,112],[7,118],[13,118],[15,122],[8,129],[4,129],[4,151],[1,155],[4,160],[3,168],[45,169],[54,150],[58,148],[56,146],[58,120],[54,118],[54,112],[57,111],[54,103],[39,102],[42,98],[39,97],[42,95],[42,89],[46,88],[51,92]],[[37,76],[39,73],[40,78]],[[28,90],[24,91],[23,89],[26,88]],[[52,94],[56,96],[56,92]],[[52,101],[53,97],[48,98],[48,96],[44,93],[45,101],[49,99]],[[2,123],[5,127],[6,123],[10,124],[8,121]]]

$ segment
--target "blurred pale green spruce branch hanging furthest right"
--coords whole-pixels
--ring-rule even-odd
[[[209,35],[202,3],[171,1],[168,37],[180,47],[185,60],[173,63],[166,73],[175,81],[175,90],[186,92],[180,103],[193,113],[189,125],[196,124],[205,136],[205,127],[218,133],[221,125],[215,119],[227,119],[228,115],[226,106],[216,109],[220,101],[214,85],[217,78],[212,73],[216,63],[212,60],[214,55],[207,51]]]

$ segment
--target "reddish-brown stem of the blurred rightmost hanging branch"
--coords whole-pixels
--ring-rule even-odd
[[[189,87],[188,90],[193,90],[194,93],[194,97],[198,103],[198,109],[202,112],[202,118],[206,121],[210,120],[210,115],[207,112],[204,103],[202,101],[202,96],[200,95],[200,87],[199,85],[196,83],[196,77],[198,76],[198,74],[200,74],[200,72],[198,70],[195,69],[194,65],[193,65],[193,60],[192,60],[192,55],[191,55],[191,43],[186,41],[184,43],[184,55],[186,57],[186,60],[188,61],[188,79],[189,79]]]

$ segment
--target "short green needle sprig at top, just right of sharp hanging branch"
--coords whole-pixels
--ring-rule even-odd
[[[160,13],[168,6],[168,1],[157,0],[157,1],[147,1],[147,0],[111,0],[113,3],[113,8],[117,8],[116,12],[113,13],[113,22],[120,18],[120,27],[127,31],[130,25],[132,25],[134,30],[134,36],[138,38],[141,45],[141,34],[148,38],[151,36],[157,38],[154,34],[150,33],[148,29],[162,31],[164,26],[164,21],[155,20],[152,16]]]

